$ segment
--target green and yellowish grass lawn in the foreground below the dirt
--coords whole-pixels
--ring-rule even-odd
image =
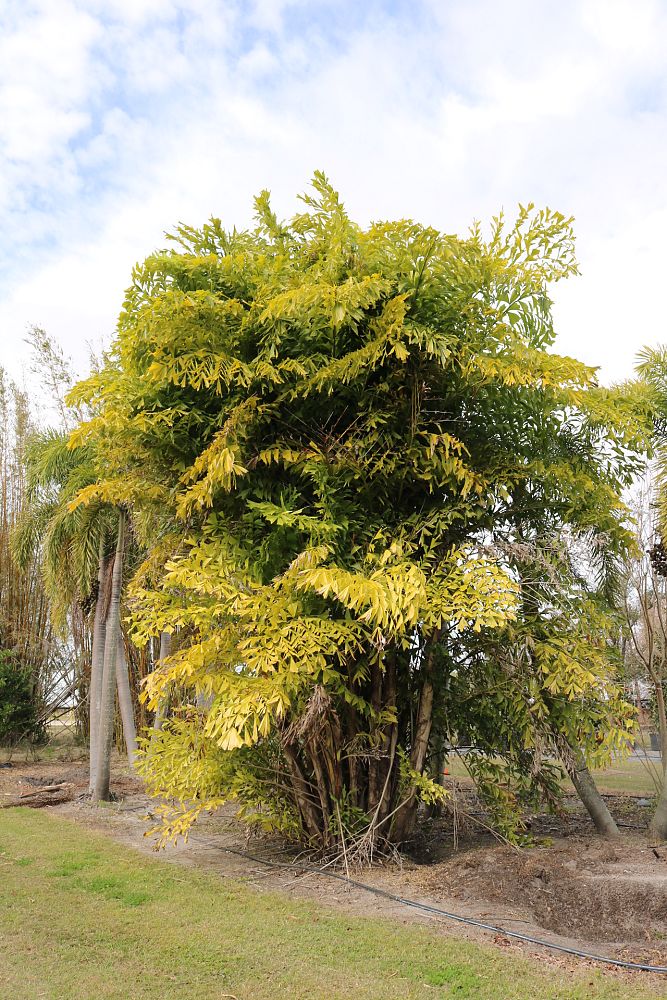
[[[258,893],[44,812],[0,812],[3,1000],[648,1000],[665,986]]]

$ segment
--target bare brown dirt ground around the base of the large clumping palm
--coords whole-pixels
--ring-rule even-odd
[[[113,776],[116,801],[94,806],[86,798],[85,760],[33,763],[14,758],[11,767],[0,766],[0,806],[55,783],[64,788],[26,798],[23,804],[48,802],[49,812],[140,851],[153,850],[145,833],[151,826],[154,800],[120,764]],[[647,844],[642,832],[649,816],[645,799],[613,798],[612,810],[625,834],[618,844],[596,837],[587,816],[570,799],[562,816],[527,817],[536,846],[518,850],[499,843],[484,829],[484,815],[470,787],[457,781],[453,790],[455,815],[425,819],[400,864],[385,863],[350,874],[396,895],[543,940],[667,965],[667,847],[652,849]],[[390,916],[406,923],[434,919],[306,872],[298,859],[289,870],[275,870],[230,850],[283,863],[295,861],[279,841],[251,835],[234,818],[231,807],[200,820],[187,844],[169,847],[160,857],[241,879],[258,891],[289,892],[350,913]],[[488,939],[488,933],[435,919],[443,922],[447,933]],[[524,947],[502,936],[494,940],[502,947]],[[571,962],[544,950],[539,954],[540,961],[548,964]]]

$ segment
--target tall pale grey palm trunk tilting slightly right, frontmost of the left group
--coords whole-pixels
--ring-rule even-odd
[[[95,801],[109,799],[109,782],[111,778],[111,744],[113,742],[113,718],[116,693],[116,659],[118,656],[118,638],[120,636],[120,592],[123,584],[123,546],[125,542],[125,515],[121,511],[118,516],[118,538],[116,556],[111,577],[111,600],[107,616],[106,640],[104,643],[104,674],[102,677],[102,697],[100,709],[99,741],[97,751],[97,767],[93,799]]]

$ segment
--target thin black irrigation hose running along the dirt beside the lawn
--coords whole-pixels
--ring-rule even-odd
[[[404,896],[397,896],[393,892],[387,892],[386,889],[378,889],[377,886],[367,885],[365,882],[357,882],[356,879],[350,878],[348,875],[338,875],[336,872],[326,871],[324,868],[318,868],[316,865],[308,865],[303,862],[298,862],[294,864],[293,862],[286,863],[284,861],[267,861],[266,858],[259,858],[254,854],[247,854],[245,851],[237,851],[232,847],[223,848],[227,854],[236,854],[240,858],[246,858],[248,861],[254,861],[260,865],[266,865],[268,868],[283,868],[293,871],[295,868],[302,868],[305,871],[312,872],[313,875],[325,875],[327,878],[334,878],[338,882],[344,882],[346,885],[354,886],[355,889],[363,889],[365,892],[370,892],[374,896],[380,896],[383,899],[389,899],[394,903],[402,903],[403,906],[410,906],[414,910],[422,910],[424,913],[432,913],[438,917],[446,917],[447,920],[455,920],[459,924],[469,924],[471,927],[479,927],[484,931],[493,931],[494,934],[502,934],[504,937],[514,938],[517,941],[524,941],[526,944],[537,944],[541,948],[550,948],[551,951],[560,951],[565,955],[574,955],[575,958],[587,958],[591,962],[603,962],[605,965],[615,965],[620,969],[633,969],[636,972],[660,972],[667,974],[667,966],[665,965],[643,965],[641,962],[625,962],[620,958],[607,958],[604,955],[593,955],[588,951],[580,951],[578,948],[568,948],[564,944],[554,944],[551,941],[543,941],[541,938],[531,937],[530,934],[521,934],[520,931],[508,931],[504,927],[496,927],[493,924],[485,924],[482,920],[475,920],[474,917],[462,917],[458,913],[450,913],[448,910],[441,910],[438,906],[429,906],[428,903],[419,903],[416,899],[406,899]]]

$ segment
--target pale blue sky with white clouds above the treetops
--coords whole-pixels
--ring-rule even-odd
[[[85,373],[178,222],[316,169],[359,223],[575,217],[556,348],[611,383],[667,341],[666,0],[0,0],[0,365]]]

